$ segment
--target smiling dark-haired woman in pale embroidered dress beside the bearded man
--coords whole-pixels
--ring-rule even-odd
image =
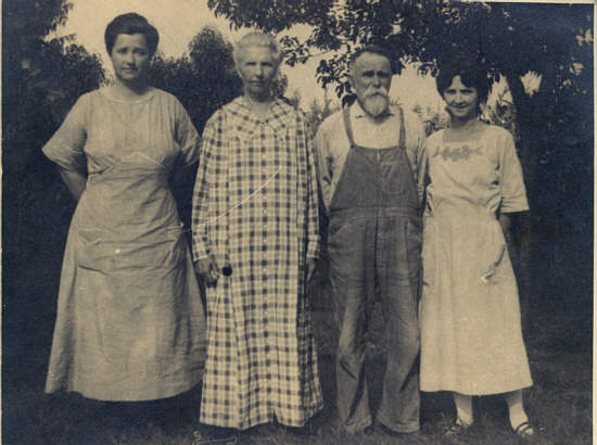
[[[453,393],[450,435],[473,423],[471,396],[504,394],[512,430],[529,438],[522,389],[532,380],[505,242],[510,214],[529,209],[520,163],[512,136],[479,119],[486,71],[458,59],[436,85],[450,125],[428,139],[421,391]]]

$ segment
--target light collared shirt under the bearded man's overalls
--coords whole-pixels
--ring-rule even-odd
[[[421,203],[427,173],[424,128],[415,113],[404,110],[403,112],[406,130],[406,154],[415,176],[419,203]],[[391,106],[385,119],[376,122],[363,110],[358,102],[355,102],[350,109],[350,119],[357,145],[385,149],[398,144],[401,119],[397,106]],[[332,114],[321,123],[315,137],[315,148],[318,157],[317,169],[322,202],[326,211],[329,211],[330,202],[351,148],[341,111]]]

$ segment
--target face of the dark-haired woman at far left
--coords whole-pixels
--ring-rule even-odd
[[[151,55],[142,34],[118,34],[112,48],[116,78],[125,84],[138,81],[145,73]]]

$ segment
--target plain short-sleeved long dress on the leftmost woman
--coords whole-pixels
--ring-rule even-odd
[[[118,101],[79,98],[43,148],[88,171],[71,224],[47,392],[103,400],[174,396],[201,381],[205,318],[185,229],[168,187],[199,137],[178,100],[152,89]]]

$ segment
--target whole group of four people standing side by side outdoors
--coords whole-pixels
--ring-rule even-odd
[[[105,31],[114,84],[81,96],[43,148],[78,200],[47,392],[140,402],[202,383],[202,423],[303,427],[322,408],[305,293],[322,212],[342,428],[416,432],[419,391],[450,391],[458,434],[473,423],[471,396],[504,393],[513,431],[531,436],[504,237],[528,204],[512,137],[479,120],[486,72],[442,67],[452,124],[425,139],[390,104],[391,58],[363,48],[350,63],[356,102],[312,139],[301,112],[271,97],[277,41],[251,33],[234,49],[244,93],[200,138],[178,100],[147,84],[157,41],[144,17],[117,16]],[[196,161],[191,251],[168,177]],[[388,365],[373,416],[365,356],[378,295]]]

